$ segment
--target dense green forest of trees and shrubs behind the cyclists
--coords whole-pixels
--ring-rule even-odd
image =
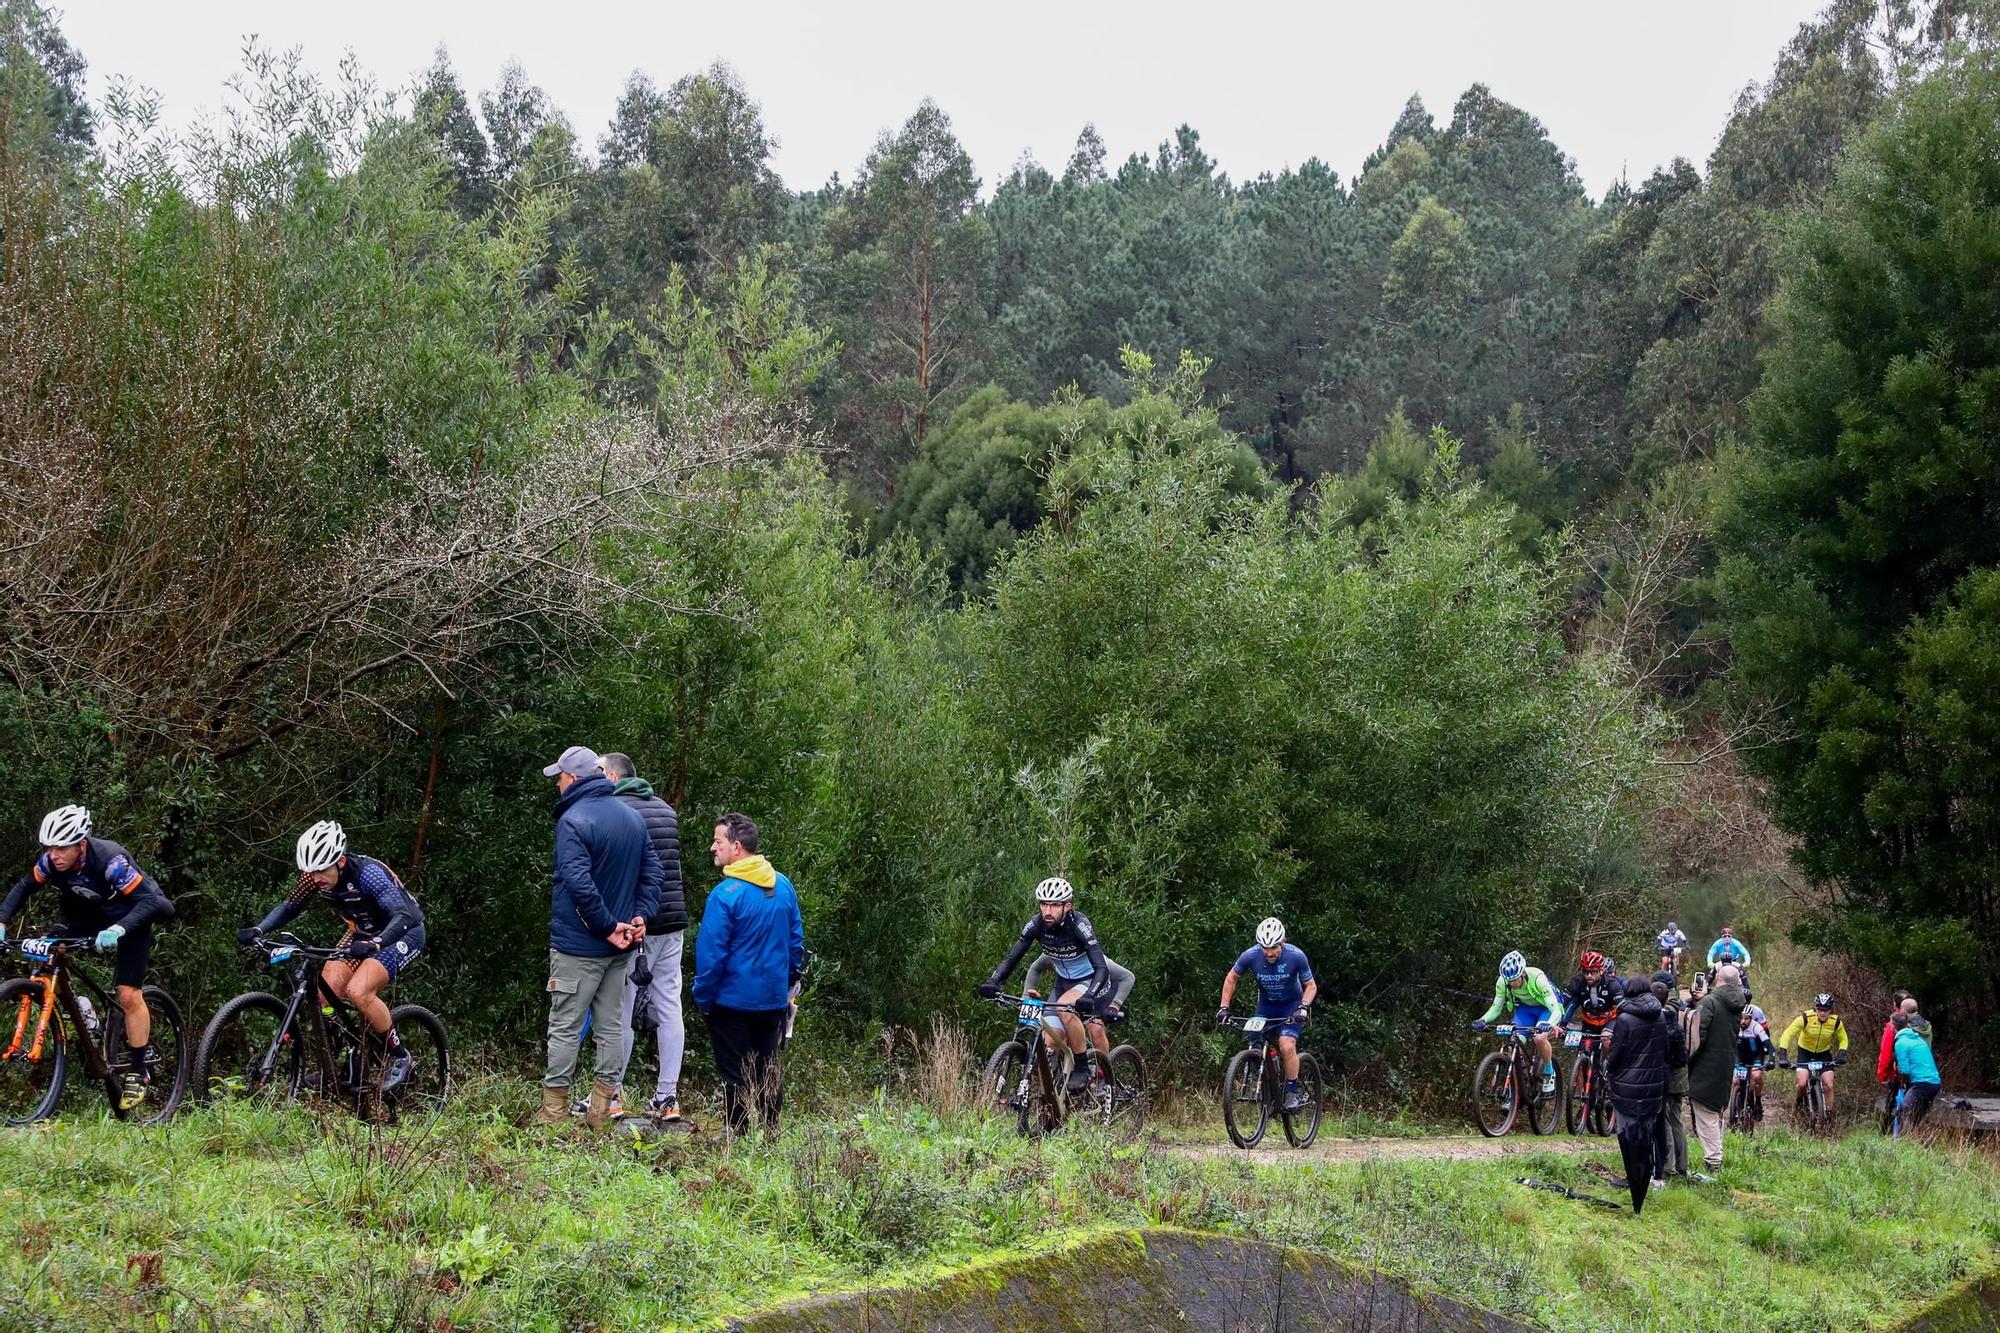
[[[86,801],[200,1007],[338,817],[528,1045],[582,741],[764,825],[826,1023],[966,1011],[1060,867],[1154,1037],[1278,913],[1380,1067],[1508,947],[1638,955],[1754,787],[1800,937],[2000,1069],[1994,54],[1838,0],[1604,198],[1484,86],[1352,178],[1082,126],[988,188],[924,102],[792,192],[728,66],[592,138],[254,50],[170,140],[0,0],[18,861]]]

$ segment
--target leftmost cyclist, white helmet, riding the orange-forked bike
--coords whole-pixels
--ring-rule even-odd
[[[64,805],[42,817],[42,855],[0,903],[0,943],[8,923],[42,885],[56,889],[58,925],[50,935],[92,935],[98,953],[118,951],[112,981],[126,1021],[130,1057],[118,1075],[118,1109],[146,1101],[152,1081],[152,1011],[146,1009],[146,965],[152,927],[174,919],[174,905],[160,881],[142,871],[132,853],[110,839],[90,837],[90,811]]]

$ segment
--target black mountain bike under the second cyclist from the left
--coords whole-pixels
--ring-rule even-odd
[[[204,1101],[296,1101],[318,1095],[354,1103],[366,1121],[430,1113],[452,1093],[444,1023],[422,1005],[396,1005],[390,1021],[410,1051],[410,1077],[384,1089],[388,1051],[368,1023],[320,981],[320,967],[352,957],[316,949],[296,935],[254,945],[270,967],[290,973],[292,991],[246,991],[208,1021],[194,1053],[194,1091]]]

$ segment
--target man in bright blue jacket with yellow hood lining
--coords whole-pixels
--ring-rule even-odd
[[[748,815],[724,815],[708,845],[722,883],[708,891],[694,937],[694,1007],[708,1015],[730,1133],[748,1133],[750,1099],[778,1129],[784,1079],[778,1039],[792,979],[806,965],[806,927],[792,881],[758,855]]]

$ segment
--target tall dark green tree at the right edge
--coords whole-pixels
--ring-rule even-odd
[[[1926,78],[1794,222],[1722,524],[1744,685],[1790,727],[1754,763],[1800,865],[1858,909],[1826,937],[1884,965],[1916,949],[1870,923],[1956,949],[1918,965],[1980,1015],[2000,1005],[1984,723],[2000,703],[2000,170],[1980,150],[1996,110],[1984,60]]]

